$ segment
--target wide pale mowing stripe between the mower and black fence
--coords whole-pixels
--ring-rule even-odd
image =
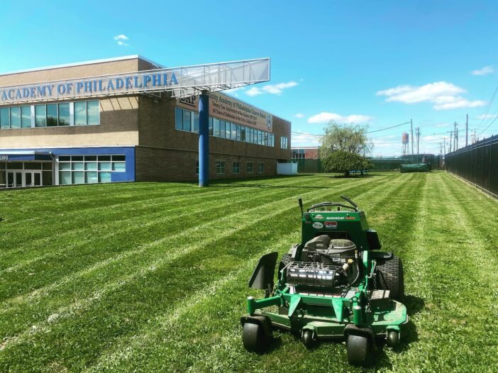
[[[472,292],[474,287],[470,281],[474,277],[472,271],[462,273],[460,268],[460,264],[465,262],[472,266],[469,252],[464,249],[465,240],[461,237],[462,223],[459,223],[467,219],[458,213],[458,199],[453,199],[451,192],[446,188],[445,177],[446,175],[441,173],[431,174],[431,187],[426,184],[422,194],[423,208],[417,219],[411,250],[408,252],[411,265],[406,267],[407,290],[421,297],[421,311],[411,316],[411,321],[417,325],[417,339],[438,340],[438,348],[434,349],[431,343],[416,343],[404,359],[401,356],[392,356],[392,364],[416,364],[416,372],[453,371],[462,369],[459,360],[472,360],[471,356],[465,357],[465,348],[474,343],[463,333],[463,324],[460,321],[465,323],[468,316],[477,320],[478,318],[471,316],[472,310],[475,311],[476,302],[482,304],[482,301],[472,299],[477,294],[482,296],[480,291],[475,291],[477,289],[473,289],[474,296],[465,294],[466,288],[470,286],[469,290]],[[457,227],[458,230],[455,230]],[[427,235],[428,231],[432,234]],[[441,235],[451,231],[451,238]],[[418,281],[410,281],[410,278]],[[477,315],[479,313],[477,312]],[[479,340],[475,331],[472,327],[474,338]],[[472,354],[475,354],[475,351]],[[423,360],[420,360],[421,356],[424,356]]]

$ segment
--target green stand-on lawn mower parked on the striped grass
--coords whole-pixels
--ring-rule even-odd
[[[265,298],[247,299],[240,318],[246,350],[265,352],[272,329],[301,336],[306,347],[317,340],[345,338],[350,364],[372,364],[376,340],[399,343],[408,322],[403,267],[392,252],[379,251],[377,232],[365,212],[348,202],[323,202],[301,208],[301,243],[282,257],[274,286],[277,252],[263,255],[249,287],[265,290]],[[271,307],[271,308],[269,308]]]

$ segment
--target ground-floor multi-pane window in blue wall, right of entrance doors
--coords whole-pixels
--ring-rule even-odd
[[[111,182],[111,172],[126,172],[125,155],[60,155],[59,184]]]

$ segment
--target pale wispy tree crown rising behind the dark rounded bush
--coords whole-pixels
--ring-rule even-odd
[[[336,121],[330,121],[324,128],[325,135],[321,138],[320,157],[325,159],[331,152],[342,150],[343,152],[368,155],[373,144],[368,142],[367,126],[353,124],[338,125]]]

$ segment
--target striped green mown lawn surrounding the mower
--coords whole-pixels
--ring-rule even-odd
[[[346,194],[402,257],[410,322],[381,371],[498,370],[498,203],[450,174],[136,183],[0,193],[0,372],[351,372],[345,345],[245,352],[260,255]]]

